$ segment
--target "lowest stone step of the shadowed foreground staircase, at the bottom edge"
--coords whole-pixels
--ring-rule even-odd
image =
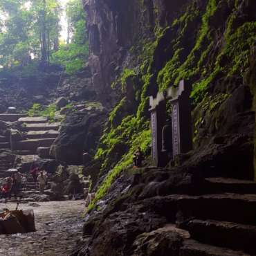
[[[198,241],[188,239],[183,242],[179,256],[250,256],[244,252],[201,244]]]

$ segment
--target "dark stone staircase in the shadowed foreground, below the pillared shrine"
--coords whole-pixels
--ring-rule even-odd
[[[205,194],[167,197],[156,209],[169,209],[167,218],[190,233],[181,256],[256,255],[256,183],[210,178]]]

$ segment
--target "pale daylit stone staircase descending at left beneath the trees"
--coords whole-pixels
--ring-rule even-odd
[[[8,169],[15,165],[15,155],[19,158],[26,158],[28,161],[38,158],[40,149],[44,149],[44,156],[48,158],[50,147],[59,135],[60,122],[48,123],[45,117],[26,117],[22,114],[6,113],[0,114],[0,121],[19,122],[22,127],[23,140],[12,140],[9,136],[0,136],[0,179],[10,176]],[[11,154],[8,154],[8,153]],[[40,155],[42,158],[44,156]],[[21,202],[34,201],[32,195],[39,194],[37,183],[33,181],[30,174],[25,174],[27,181],[23,183],[21,190]],[[8,201],[17,201],[10,199]]]

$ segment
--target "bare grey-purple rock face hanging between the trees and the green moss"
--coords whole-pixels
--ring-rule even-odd
[[[136,66],[130,49],[143,39],[154,37],[156,24],[174,19],[188,0],[84,0],[89,32],[89,65],[99,99],[109,107],[116,94],[111,83],[123,66]],[[157,11],[156,11],[157,10]],[[134,63],[135,62],[135,63]]]

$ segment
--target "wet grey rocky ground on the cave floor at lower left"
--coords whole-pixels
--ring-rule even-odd
[[[0,203],[0,209],[15,209],[14,203]],[[0,255],[68,255],[81,237],[84,201],[51,201],[21,204],[19,209],[33,209],[36,232],[0,235]]]

